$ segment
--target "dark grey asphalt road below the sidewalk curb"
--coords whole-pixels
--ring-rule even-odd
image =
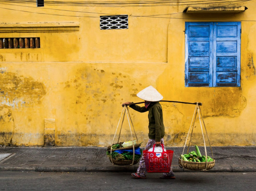
[[[148,174],[147,179],[138,180],[130,173],[0,171],[0,190],[254,191],[256,188],[255,172],[177,172],[175,180],[159,179],[160,175]]]

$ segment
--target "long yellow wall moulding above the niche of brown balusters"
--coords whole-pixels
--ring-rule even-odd
[[[0,33],[76,31],[79,31],[79,23],[0,23]]]

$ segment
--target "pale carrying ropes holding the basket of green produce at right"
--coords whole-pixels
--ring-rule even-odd
[[[191,127],[192,127],[192,130],[191,130],[190,140],[189,140],[189,144],[188,144],[188,148],[187,148],[187,154],[189,153],[189,146],[190,146],[190,141],[192,140],[192,134],[193,134],[194,126],[195,126],[195,120],[197,118],[197,113],[198,113],[200,127],[201,127],[201,131],[202,131],[202,135],[203,135],[203,140],[204,140],[204,132],[203,132],[203,127],[202,127],[201,119],[203,121],[205,131],[206,131],[206,126],[205,126],[205,123],[204,123],[202,112],[200,110],[200,106],[199,106],[199,104],[197,102],[197,105],[195,107],[195,111],[194,111],[194,114],[193,114],[193,117],[192,117],[192,121],[191,121],[191,124],[190,124],[190,127],[189,127],[189,132],[190,132]],[[193,125],[192,125],[192,123],[193,123]],[[184,144],[184,147],[183,147],[182,155],[184,154],[184,150],[185,150],[185,147],[186,147],[187,139],[189,137],[189,132],[187,133],[187,138],[186,138],[186,141],[185,141],[185,144]],[[207,138],[208,138],[208,141],[209,141],[209,144],[210,144],[210,140],[209,140],[209,136],[207,134],[207,131],[206,131],[206,135],[207,135]],[[211,149],[211,152],[212,152],[211,144],[210,144],[210,149]],[[205,169],[204,169],[204,171],[205,171],[207,169],[207,150],[206,150],[205,140],[204,140],[204,152],[205,152],[205,156],[206,156],[206,165],[205,165]],[[212,152],[212,158],[213,158],[213,152]],[[181,165],[184,168],[184,166],[183,166],[183,158],[181,158]]]

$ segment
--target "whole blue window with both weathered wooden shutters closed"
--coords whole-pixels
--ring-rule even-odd
[[[240,86],[241,22],[185,25],[185,86]]]

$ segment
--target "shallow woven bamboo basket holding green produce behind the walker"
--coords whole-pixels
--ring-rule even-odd
[[[186,168],[188,170],[210,170],[211,168],[214,167],[214,165],[215,165],[214,159],[211,162],[207,162],[207,167],[205,168],[206,162],[189,162],[189,161],[182,160],[182,163],[181,163],[181,159],[179,158],[179,166],[181,168]]]

